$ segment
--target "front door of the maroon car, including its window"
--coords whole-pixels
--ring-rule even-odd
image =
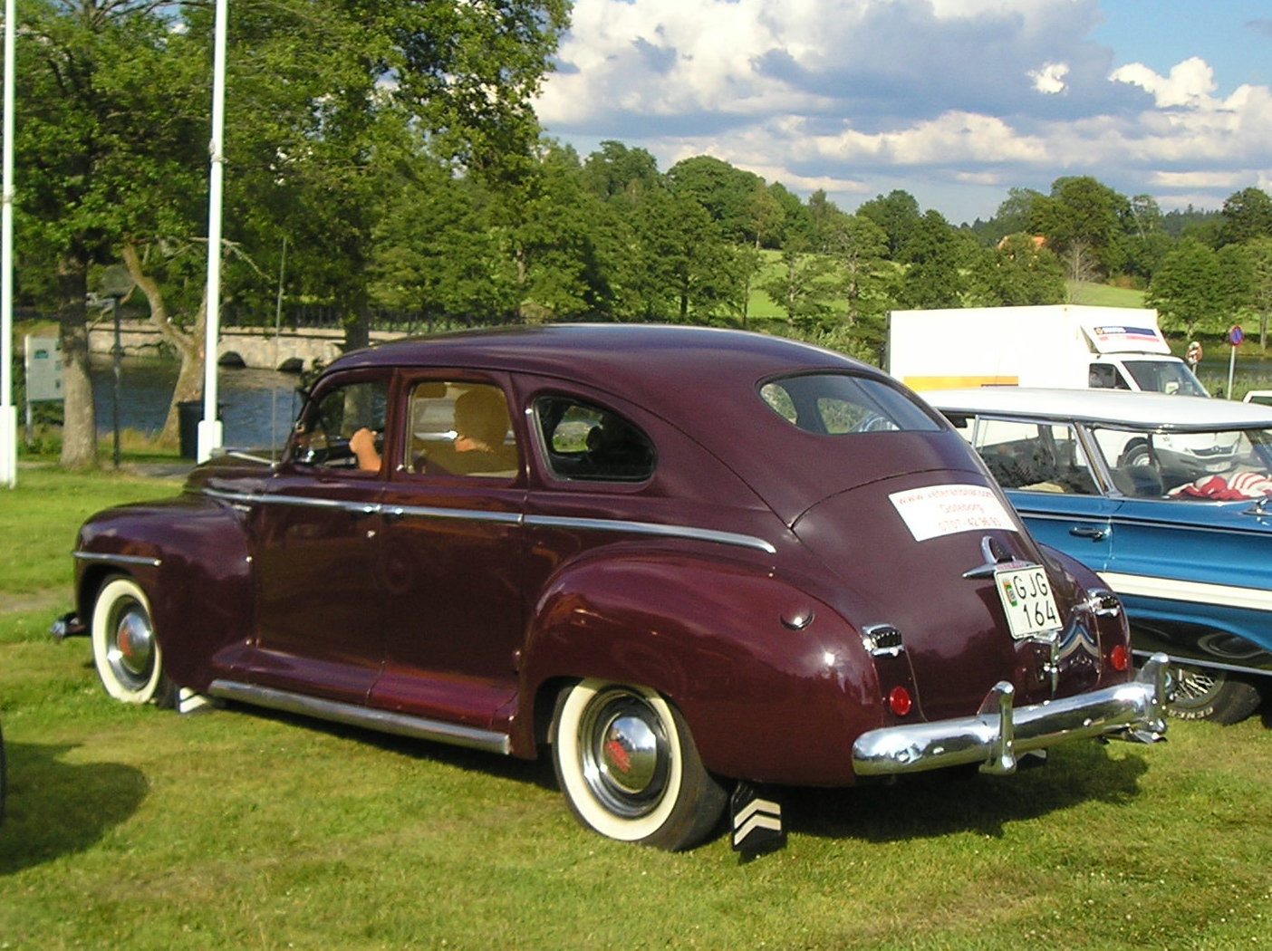
[[[244,671],[252,683],[365,703],[379,675],[384,483],[359,468],[349,444],[360,428],[383,432],[388,390],[388,371],[324,381],[252,506],[256,650]]]

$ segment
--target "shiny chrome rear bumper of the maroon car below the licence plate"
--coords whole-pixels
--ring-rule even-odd
[[[852,744],[857,776],[918,773],[965,763],[1006,774],[1016,756],[1057,742],[1104,736],[1154,742],[1166,732],[1170,660],[1154,653],[1135,680],[1029,707],[1013,707],[1015,688],[995,684],[974,717],[871,730]]]

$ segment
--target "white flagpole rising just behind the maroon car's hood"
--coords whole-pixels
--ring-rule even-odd
[[[225,33],[228,0],[216,0],[212,56],[212,139],[207,144],[211,172],[207,188],[207,322],[204,336],[204,418],[198,423],[198,462],[207,462],[223,444],[216,418],[216,342],[221,336],[221,187],[225,177]]]

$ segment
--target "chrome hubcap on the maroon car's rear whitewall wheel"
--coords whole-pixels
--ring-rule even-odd
[[[583,774],[608,810],[635,818],[659,804],[667,791],[668,741],[644,699],[626,690],[599,694],[579,739]]]

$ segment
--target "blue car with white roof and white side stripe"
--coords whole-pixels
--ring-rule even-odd
[[[1272,689],[1272,407],[993,387],[921,394],[1039,542],[1122,598],[1175,661],[1172,713],[1234,723]]]

